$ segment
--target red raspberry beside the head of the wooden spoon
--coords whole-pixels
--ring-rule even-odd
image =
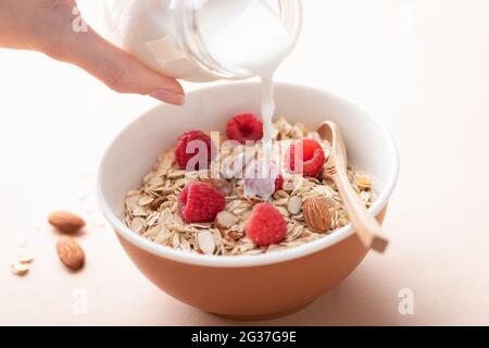
[[[316,177],[326,161],[321,144],[314,139],[301,139],[290,145],[286,154],[286,165],[291,172]]]

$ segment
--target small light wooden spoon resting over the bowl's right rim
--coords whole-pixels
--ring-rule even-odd
[[[331,153],[324,166],[323,176],[331,178],[338,187],[350,221],[364,246],[384,252],[389,240],[384,236],[380,224],[368,213],[351,187],[347,174],[347,148],[338,126],[331,121],[326,121],[319,125],[317,133],[331,144]]]

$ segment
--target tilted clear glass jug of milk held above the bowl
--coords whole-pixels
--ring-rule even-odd
[[[190,82],[271,75],[301,27],[299,0],[108,0],[113,40]]]

